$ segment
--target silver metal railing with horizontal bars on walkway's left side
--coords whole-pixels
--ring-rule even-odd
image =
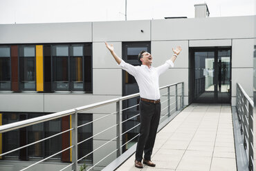
[[[174,90],[171,90],[171,88],[174,89]],[[166,90],[166,92],[164,94],[161,94],[161,98],[164,99],[163,101],[161,99],[161,104],[164,105],[164,106],[166,105],[166,107],[162,108],[162,110],[161,110],[162,113],[163,113],[163,111],[166,111],[163,114],[161,114],[161,120],[163,121],[163,119],[167,119],[168,117],[170,117],[172,115],[172,113],[174,113],[176,110],[181,110],[182,108],[184,108],[184,83],[181,82],[181,83],[174,83],[174,84],[171,84],[171,85],[168,85],[168,86],[163,86],[163,87],[160,88],[160,90],[161,91]],[[71,162],[71,164],[66,165],[66,167],[62,168],[61,170],[66,170],[68,168],[71,169],[71,170],[79,170],[78,165],[77,165],[79,161],[81,161],[82,159],[85,159],[90,154],[93,154],[93,152],[99,150],[100,148],[106,147],[106,145],[108,143],[110,143],[111,141],[116,140],[116,150],[113,150],[111,153],[102,157],[102,159],[100,159],[100,161],[98,161],[97,163],[93,163],[93,165],[91,165],[91,167],[88,168],[88,170],[92,170],[95,166],[97,166],[104,159],[107,159],[107,157],[109,157],[114,152],[116,152],[116,157],[119,157],[120,154],[122,154],[122,147],[124,145],[127,145],[127,143],[129,143],[130,141],[136,139],[136,137],[138,137],[138,134],[137,134],[132,139],[129,139],[129,141],[127,141],[123,144],[121,143],[122,135],[124,135],[125,133],[129,132],[130,130],[132,130],[132,129],[134,129],[134,128],[136,128],[140,125],[140,123],[138,123],[133,128],[130,128],[129,130],[126,130],[125,132],[120,131],[122,123],[125,123],[125,122],[129,121],[130,119],[134,119],[134,117],[138,117],[138,115],[139,115],[139,114],[136,114],[134,117],[130,117],[129,119],[126,119],[125,121],[121,121],[122,119],[120,119],[120,116],[122,116],[123,111],[128,110],[130,108],[134,108],[138,105],[138,104],[136,104],[136,105],[130,106],[129,108],[122,109],[121,108],[121,102],[125,101],[127,99],[135,98],[135,97],[139,97],[139,93],[131,94],[131,95],[128,95],[128,96],[125,96],[125,97],[120,97],[120,98],[111,99],[111,100],[107,100],[107,101],[102,101],[102,102],[99,102],[99,103],[93,103],[91,105],[84,105],[80,108],[74,108],[74,109],[71,109],[71,110],[56,112],[56,113],[48,114],[48,115],[45,115],[45,116],[42,116],[42,117],[27,119],[25,121],[18,121],[18,122],[15,122],[15,123],[1,125],[0,126],[0,133],[3,133],[3,132],[9,132],[11,130],[17,130],[19,128],[24,128],[24,127],[27,127],[27,126],[30,126],[30,125],[35,125],[37,123],[43,123],[43,122],[46,122],[46,121],[51,121],[53,119],[58,119],[58,118],[62,118],[62,117],[66,117],[68,115],[71,115],[71,128],[70,129],[59,132],[57,134],[54,134],[51,137],[46,137],[45,139],[40,139],[39,141],[35,141],[33,143],[29,143],[29,144],[21,146],[19,148],[15,148],[15,149],[10,150],[8,152],[4,152],[4,153],[0,154],[0,157],[3,157],[4,155],[10,154],[11,152],[15,152],[17,150],[21,150],[22,148],[27,148],[30,145],[35,145],[35,143],[40,143],[42,141],[46,141],[46,140],[51,139],[53,137],[56,137],[60,134],[64,134],[65,132],[71,132],[71,142],[72,142],[71,146],[69,146],[66,149],[62,149],[61,151],[56,152],[55,154],[52,154],[51,156],[46,157],[46,158],[44,158],[40,161],[37,161],[36,163],[33,163],[32,165],[28,165],[28,167],[26,167],[22,170],[28,170],[28,168],[32,168],[33,166],[35,166],[39,163],[42,163],[43,161],[46,161],[47,159],[51,159],[51,157],[54,157],[55,155],[60,154],[60,153],[66,151],[66,150],[69,150],[71,148],[72,148],[72,153],[71,153],[72,154],[72,160],[71,160],[72,162]],[[84,112],[86,110],[99,108],[99,107],[109,105],[109,104],[113,104],[113,103],[116,103],[116,111],[115,112],[111,112],[111,113],[109,113],[109,114],[107,114],[103,117],[100,117],[98,119],[94,119],[93,121],[90,121],[89,123],[85,123],[85,124],[82,124],[82,125],[77,125],[77,114],[79,112]],[[173,108],[172,108],[172,106],[173,106]],[[87,139],[84,139],[80,142],[77,142],[77,129],[78,128],[82,128],[85,125],[92,124],[95,121],[99,121],[99,120],[104,119],[106,117],[113,116],[113,114],[116,114],[116,124],[111,125],[109,128],[104,129],[104,130],[98,132],[97,134],[93,134],[93,136],[91,136]],[[93,139],[93,137],[95,137],[99,134],[102,134],[102,133],[106,132],[107,130],[110,130],[111,128],[116,128],[116,137],[113,137],[111,140],[109,140],[106,143],[100,145],[98,148],[93,149],[93,151],[89,152],[84,157],[81,157],[80,159],[78,159],[78,155],[77,155],[78,145],[88,141],[89,139]]]

